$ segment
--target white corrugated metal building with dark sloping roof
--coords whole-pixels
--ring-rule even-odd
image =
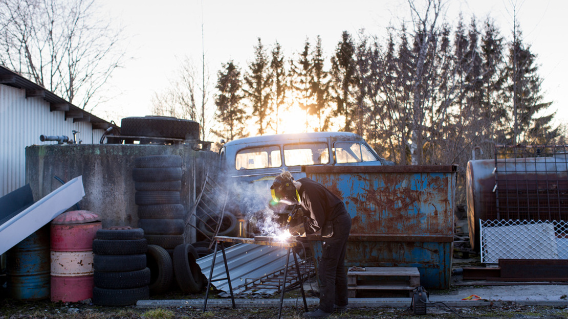
[[[112,125],[0,65],[0,196],[24,186],[26,146],[40,135],[65,135],[98,143]]]

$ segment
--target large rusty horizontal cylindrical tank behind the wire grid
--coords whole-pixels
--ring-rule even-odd
[[[568,220],[566,154],[467,162],[467,222],[479,251],[480,220]]]

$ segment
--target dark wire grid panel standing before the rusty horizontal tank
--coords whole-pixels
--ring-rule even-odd
[[[568,220],[568,145],[495,145],[496,211],[487,219]]]

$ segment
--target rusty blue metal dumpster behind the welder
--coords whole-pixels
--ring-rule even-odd
[[[425,288],[452,273],[455,165],[304,166],[343,199],[352,220],[346,267],[417,267]],[[321,237],[308,237],[316,266]]]

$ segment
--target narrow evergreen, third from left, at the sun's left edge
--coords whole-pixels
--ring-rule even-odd
[[[275,117],[275,127],[274,131],[278,134],[278,123],[279,123],[279,114],[282,110],[282,107],[285,103],[286,98],[286,91],[289,89],[289,79],[286,69],[284,68],[284,56],[282,54],[282,47],[276,42],[274,45],[274,49],[272,50],[272,61],[270,61],[270,70],[272,70],[272,77],[273,77],[273,110],[274,110],[274,117]]]

